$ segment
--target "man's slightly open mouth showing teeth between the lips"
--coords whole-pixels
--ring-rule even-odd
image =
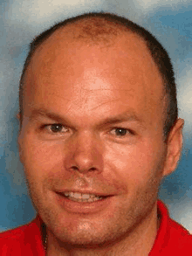
[[[102,199],[105,199],[109,196],[99,196],[95,194],[88,194],[88,193],[78,193],[78,192],[72,192],[67,191],[63,193],[59,193],[60,195],[79,203],[93,203]]]

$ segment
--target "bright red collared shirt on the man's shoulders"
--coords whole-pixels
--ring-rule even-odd
[[[149,256],[192,256],[192,235],[169,218],[166,206],[158,201],[161,225]],[[0,255],[45,256],[42,243],[41,218],[14,230],[0,233]]]

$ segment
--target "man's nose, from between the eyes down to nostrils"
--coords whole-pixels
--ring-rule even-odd
[[[102,171],[104,149],[98,137],[90,133],[74,135],[66,147],[65,170]]]

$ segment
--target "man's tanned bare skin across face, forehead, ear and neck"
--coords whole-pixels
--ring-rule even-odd
[[[148,255],[159,184],[179,160],[183,121],[165,143],[161,76],[140,38],[121,32],[110,46],[94,45],[74,40],[72,29],[79,32],[74,24],[55,32],[31,60],[18,138],[31,198],[48,228],[47,255]],[[51,131],[54,123],[61,131]],[[102,211],[72,214],[55,199],[64,189],[113,197]]]

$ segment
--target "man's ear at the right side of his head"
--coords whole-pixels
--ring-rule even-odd
[[[167,142],[167,156],[166,156],[166,164],[163,170],[163,176],[167,176],[171,174],[180,159],[182,154],[182,128],[184,125],[184,120],[179,118],[176,122],[172,130],[168,135]]]

